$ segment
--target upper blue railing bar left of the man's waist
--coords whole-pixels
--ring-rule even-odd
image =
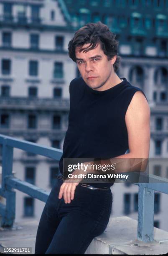
[[[2,135],[0,135],[0,144],[3,144],[4,139],[6,139],[6,145],[11,146],[13,148],[19,148],[24,151],[28,151],[41,156],[50,157],[56,160],[59,160],[62,156],[62,150],[58,148],[38,145],[37,143],[33,143],[30,141],[14,139],[9,136]]]

